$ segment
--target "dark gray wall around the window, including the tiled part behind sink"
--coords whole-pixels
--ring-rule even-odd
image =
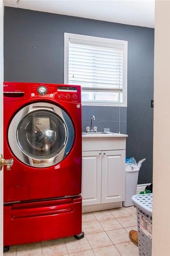
[[[63,83],[64,32],[128,41],[128,108],[83,107],[95,125],[129,135],[127,156],[146,157],[139,184],[152,181],[154,29],[5,7],[6,81]]]

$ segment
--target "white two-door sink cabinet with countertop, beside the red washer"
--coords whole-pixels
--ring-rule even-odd
[[[125,200],[127,135],[84,135],[82,198],[84,212],[122,206]]]

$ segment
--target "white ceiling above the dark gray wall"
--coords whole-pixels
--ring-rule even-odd
[[[154,28],[155,0],[4,0],[5,6]]]

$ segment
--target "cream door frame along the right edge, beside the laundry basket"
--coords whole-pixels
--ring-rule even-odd
[[[154,168],[152,255],[170,253],[169,204],[169,58],[170,2],[155,1],[155,67],[154,67]],[[163,86],[163,90],[160,88]]]

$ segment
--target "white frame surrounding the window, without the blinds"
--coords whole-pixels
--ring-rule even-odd
[[[68,84],[68,48],[69,48],[69,39],[75,39],[79,41],[79,44],[84,44],[87,42],[87,45],[95,45],[101,47],[113,47],[113,46],[122,46],[123,47],[123,102],[122,103],[111,103],[111,102],[82,102],[82,105],[91,105],[91,106],[127,106],[127,62],[128,62],[128,41],[88,36],[88,35],[79,35],[79,34],[70,34],[64,33],[64,83]]]

